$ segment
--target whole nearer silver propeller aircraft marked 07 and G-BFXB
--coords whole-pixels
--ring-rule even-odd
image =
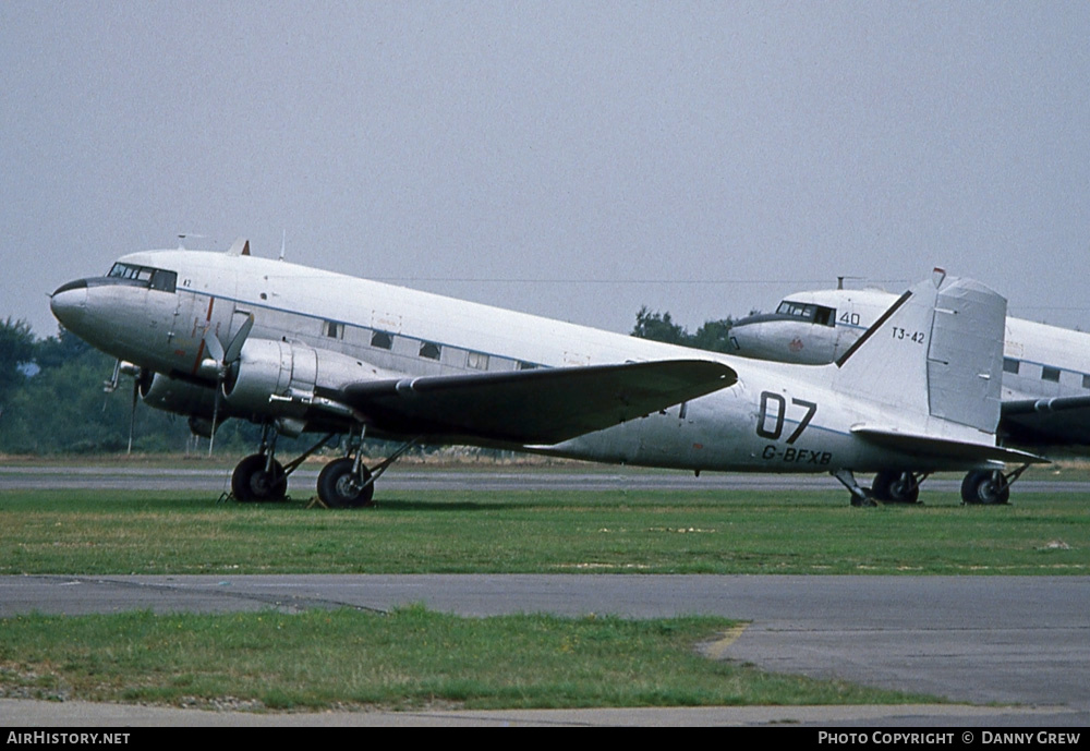
[[[915,284],[824,367],[637,339],[250,255],[149,251],[62,286],[53,314],[116,356],[144,401],[211,435],[263,425],[239,500],[282,498],[278,435],[348,435],[318,477],[334,507],[419,443],[719,471],[967,471],[966,502],[1003,502],[1038,457],[996,445],[1006,301],[971,281]],[[363,465],[364,434],[403,441]],[[307,452],[308,455],[310,452]],[[307,455],[304,455],[307,456]],[[1004,474],[1006,463],[1020,467]]]

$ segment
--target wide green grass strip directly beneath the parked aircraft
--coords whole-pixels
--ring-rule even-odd
[[[1090,572],[1090,497],[855,509],[840,492],[386,492],[377,508],[193,493],[0,494],[0,573]]]

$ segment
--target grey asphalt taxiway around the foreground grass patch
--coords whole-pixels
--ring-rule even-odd
[[[862,725],[1090,723],[1090,577],[0,578],[3,617],[32,610],[81,614],[132,608],[225,613],[355,607],[383,611],[416,603],[465,616],[719,615],[748,623],[739,633],[706,645],[712,658],[976,705],[915,707],[907,714],[905,707],[835,707],[821,716],[813,707],[775,707],[775,712],[766,707],[764,714],[724,708],[714,722],[705,713],[697,724],[762,722],[761,717]],[[995,703],[1009,706],[986,706]],[[0,705],[0,724],[13,719],[4,714]],[[340,719],[377,722],[366,715]],[[415,722],[408,716],[401,719]],[[644,722],[652,720],[635,724]]]

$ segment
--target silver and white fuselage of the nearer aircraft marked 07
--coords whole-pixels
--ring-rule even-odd
[[[61,287],[51,305],[69,330],[144,373],[156,374],[152,388],[159,389],[159,401],[153,400],[153,405],[191,416],[207,419],[220,387],[209,368],[206,331],[227,347],[252,316],[241,374],[235,376],[238,392],[223,404],[229,416],[280,420],[280,425],[290,423],[296,429],[348,429],[352,421],[366,423],[367,415],[319,409],[315,395],[368,379],[699,356],[728,364],[738,374],[737,383],[560,444],[511,448],[698,471],[995,465],[965,457],[921,458],[860,439],[853,428],[895,425],[906,434],[994,444],[988,429],[930,415],[925,393],[901,396],[896,385],[870,396],[849,393],[856,389],[845,384],[847,376],[836,366],[799,367],[698,353],[250,255],[133,253],[118,261],[111,276]],[[925,367],[915,354],[910,362],[911,368]],[[247,368],[258,366],[266,377],[247,380]],[[852,377],[863,380],[859,374]],[[912,376],[906,383],[918,384],[921,378]],[[289,403],[300,395],[302,399]],[[382,424],[372,427],[379,434],[390,432]]]

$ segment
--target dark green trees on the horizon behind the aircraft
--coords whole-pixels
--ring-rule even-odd
[[[641,307],[631,335],[716,352],[728,351],[731,318],[708,320],[694,334],[670,314]],[[133,380],[122,377],[110,393],[105,385],[114,361],[70,331],[36,338],[22,319],[0,323],[0,453],[119,453],[129,445],[141,453],[198,450],[185,417],[133,404]],[[133,417],[134,415],[134,417]],[[216,434],[217,452],[254,450],[259,428],[231,420]],[[312,440],[299,439],[299,446]],[[287,441],[294,444],[294,441]],[[201,441],[207,450],[207,443]],[[291,445],[283,446],[291,450]]]

